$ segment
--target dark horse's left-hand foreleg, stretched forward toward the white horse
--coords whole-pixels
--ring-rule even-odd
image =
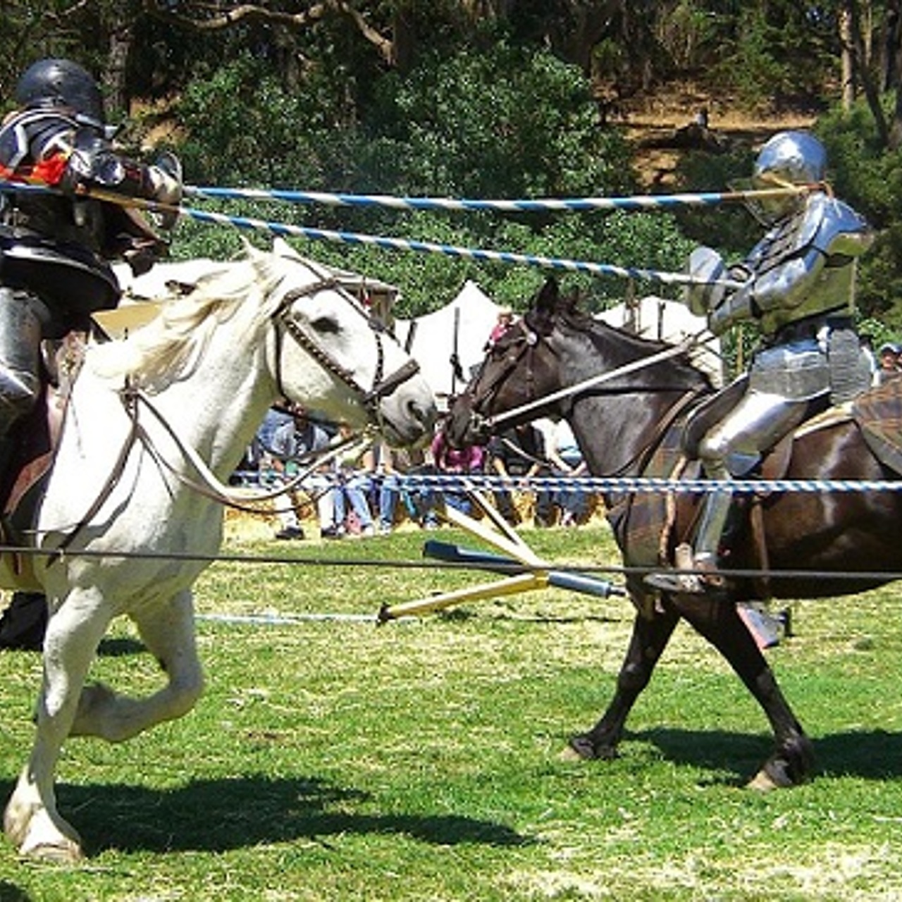
[[[617,757],[623,725],[642,690],[649,685],[652,671],[673,635],[679,615],[669,608],[650,618],[636,615],[630,647],[617,676],[617,689],[602,719],[585,733],[570,740],[570,749],[584,759]]]

